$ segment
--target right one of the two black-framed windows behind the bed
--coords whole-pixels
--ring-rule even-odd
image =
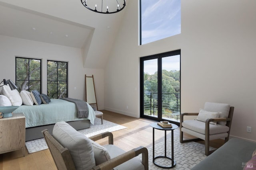
[[[68,97],[68,63],[47,61],[47,96],[51,99]]]

